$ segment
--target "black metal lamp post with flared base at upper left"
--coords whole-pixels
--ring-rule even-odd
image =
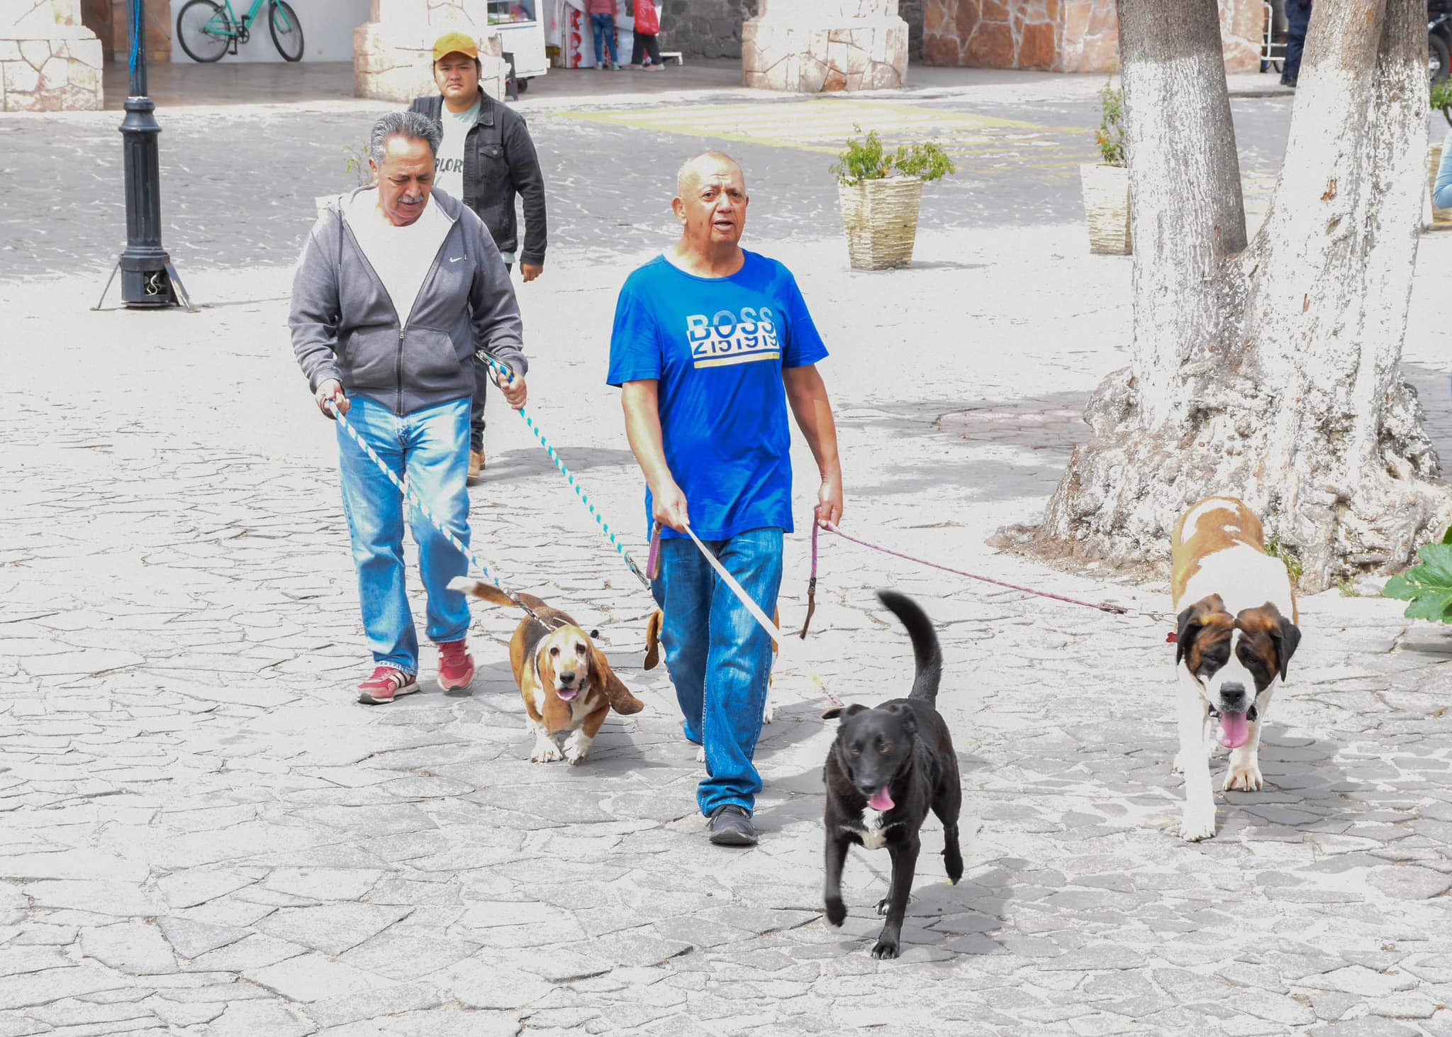
[[[155,102],[147,96],[145,0],[131,0],[131,96],[126,97],[126,118],[121,123],[126,170],[126,250],[112,269],[110,280],[119,269],[121,298],[128,306],[182,305],[192,309],[171,257],[161,247],[161,160],[157,152],[161,126],[152,115]],[[102,299],[106,289],[102,289]]]

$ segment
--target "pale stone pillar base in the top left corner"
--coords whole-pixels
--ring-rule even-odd
[[[80,0],[0,7],[0,112],[100,109],[103,60]]]

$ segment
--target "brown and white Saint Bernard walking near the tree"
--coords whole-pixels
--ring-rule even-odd
[[[1215,835],[1210,754],[1217,741],[1230,749],[1223,789],[1260,789],[1260,725],[1301,630],[1285,564],[1266,553],[1260,520],[1241,501],[1211,497],[1186,511],[1175,526],[1172,558],[1180,838],[1198,842]]]

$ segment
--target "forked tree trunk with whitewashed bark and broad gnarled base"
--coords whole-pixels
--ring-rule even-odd
[[[1179,514],[1230,494],[1301,559],[1307,591],[1407,565],[1452,517],[1400,367],[1424,0],[1316,4],[1285,167],[1249,247],[1215,0],[1118,6],[1134,349],[1089,404],[1093,437],[1035,549],[1160,565]]]

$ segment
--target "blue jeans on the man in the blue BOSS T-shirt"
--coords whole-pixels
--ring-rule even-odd
[[[781,590],[781,530],[770,526],[706,542],[768,616]],[[661,540],[661,577],[650,593],[665,611],[661,643],[685,736],[706,747],[706,780],[696,793],[701,813],[729,803],[749,812],[761,792],[751,758],[767,707],[771,636],[688,539]]]

